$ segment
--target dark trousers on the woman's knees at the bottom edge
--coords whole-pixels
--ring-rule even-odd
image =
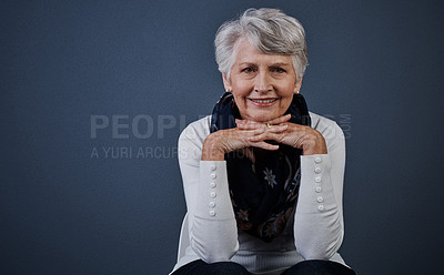
[[[172,275],[251,275],[251,273],[236,263],[206,264],[202,259],[198,259],[182,266]],[[293,265],[282,275],[356,275],[356,273],[340,263],[311,259]]]

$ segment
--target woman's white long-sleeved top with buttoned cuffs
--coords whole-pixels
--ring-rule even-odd
[[[280,274],[303,259],[331,259],[344,235],[342,190],[345,140],[332,120],[310,113],[327,154],[301,156],[301,186],[295,214],[271,243],[238,231],[229,195],[225,161],[201,161],[211,115],[189,124],[179,138],[179,164],[189,216],[191,245],[174,269],[195,261],[232,261],[254,274]],[[295,222],[294,222],[295,221]]]

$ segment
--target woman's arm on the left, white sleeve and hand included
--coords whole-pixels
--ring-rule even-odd
[[[208,119],[190,124],[182,132],[179,164],[190,216],[191,246],[203,261],[213,263],[229,261],[239,248],[224,154],[249,146],[278,150],[278,145],[250,138],[265,131],[279,134],[287,126],[265,129],[260,123],[248,130],[234,128],[210,134]],[[282,116],[276,123],[289,119]]]

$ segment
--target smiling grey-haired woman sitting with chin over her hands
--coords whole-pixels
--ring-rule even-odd
[[[355,274],[337,254],[344,135],[300,94],[301,23],[249,9],[214,43],[226,92],[179,139],[190,246],[172,274]]]

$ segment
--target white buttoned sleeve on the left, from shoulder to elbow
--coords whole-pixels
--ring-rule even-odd
[[[239,249],[225,161],[201,161],[208,136],[200,120],[179,138],[179,165],[189,214],[190,244],[206,263],[229,261]]]

